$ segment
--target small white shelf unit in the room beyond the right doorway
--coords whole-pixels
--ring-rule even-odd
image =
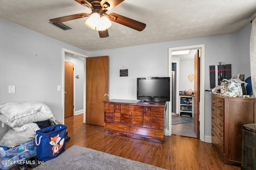
[[[180,116],[194,117],[194,96],[180,95]]]

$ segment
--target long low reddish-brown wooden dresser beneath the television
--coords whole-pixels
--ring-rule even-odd
[[[166,102],[104,101],[104,129],[106,133],[162,143],[165,112]]]

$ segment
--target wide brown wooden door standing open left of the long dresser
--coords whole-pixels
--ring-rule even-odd
[[[108,100],[108,56],[86,58],[86,123],[104,126]]]

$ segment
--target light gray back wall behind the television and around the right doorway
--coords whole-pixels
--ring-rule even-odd
[[[249,31],[249,30],[248,30]],[[250,32],[245,31],[248,35]],[[243,36],[243,35],[241,35]],[[111,38],[111,37],[109,37]],[[136,41],[131,39],[129,41]],[[232,64],[232,76],[238,72],[237,34],[217,35],[196,39],[185,39],[164,43],[138,45],[118,49],[90,52],[89,56],[108,55],[109,98],[136,100],[136,78],[148,76],[168,76],[168,48],[205,44],[205,89],[210,90],[209,66],[219,61]],[[241,56],[248,60],[248,56]],[[119,70],[128,68],[128,77],[120,77]],[[211,135],[211,102],[209,92],[205,93],[205,135]]]

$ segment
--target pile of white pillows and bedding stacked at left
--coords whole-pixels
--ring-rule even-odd
[[[0,141],[0,145],[16,147],[35,139],[40,128],[34,122],[54,117],[50,108],[41,102],[8,102],[0,106],[0,121],[12,127]]]

